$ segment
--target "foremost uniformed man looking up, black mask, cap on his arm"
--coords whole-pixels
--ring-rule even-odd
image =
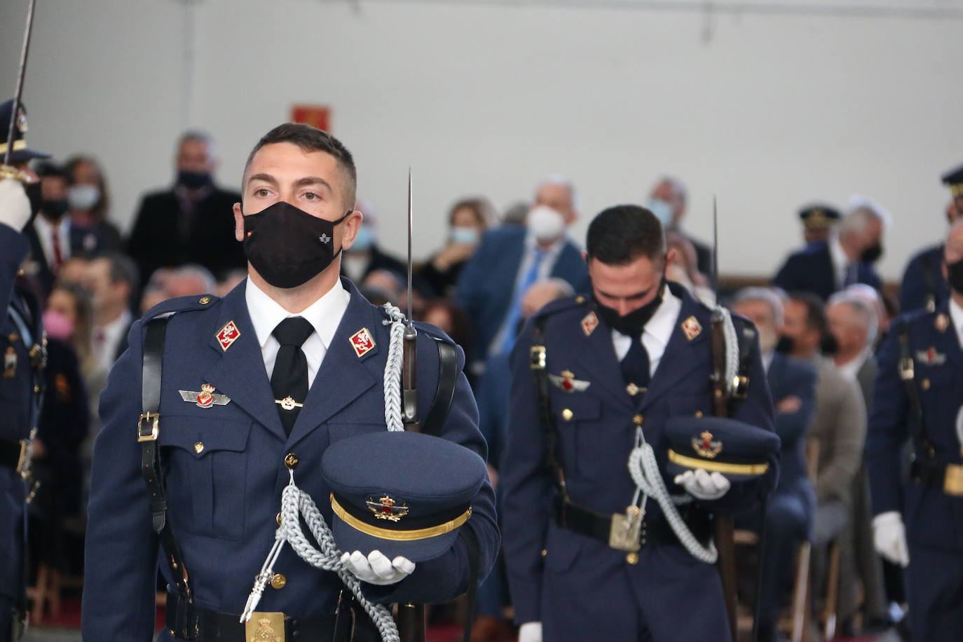
[[[234,206],[248,278],[221,299],[162,303],[131,328],[101,402],[85,639],[152,639],[159,549],[169,584],[162,639],[349,639],[334,634],[336,613],[344,615],[339,576],[308,565],[294,544],[274,558],[273,545],[279,524],[298,522],[279,512],[286,485],[297,483],[330,524],[325,449],[386,429],[386,311],[338,275],[341,249],[361,223],[355,184],[340,141],[307,125],[274,128],[248,157],[243,201]],[[168,320],[161,339],[159,318]],[[417,330],[423,430],[483,457],[462,351],[433,326]],[[487,480],[465,501],[483,577],[498,550]],[[345,555],[337,568],[360,580],[372,603],[447,600],[469,583],[461,538],[425,561],[366,553]],[[252,592],[251,578],[267,568],[267,586]],[[258,610],[240,624],[249,594]],[[364,614],[354,615],[353,639],[372,639]]]

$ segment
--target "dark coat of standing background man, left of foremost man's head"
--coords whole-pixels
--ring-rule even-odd
[[[234,238],[234,203],[241,194],[214,187],[195,205],[186,236],[186,215],[174,190],[143,197],[134,228],[127,240],[127,253],[137,263],[146,283],[158,268],[196,263],[216,276],[247,267],[244,247]]]

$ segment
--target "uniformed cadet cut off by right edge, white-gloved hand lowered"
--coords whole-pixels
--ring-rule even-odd
[[[943,253],[950,298],[894,321],[879,350],[866,443],[876,550],[906,567],[913,639],[963,631],[963,220]],[[911,439],[910,478],[894,472]]]

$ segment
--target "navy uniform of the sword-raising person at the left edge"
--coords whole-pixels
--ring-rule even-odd
[[[28,249],[23,234],[0,223],[0,641],[11,639],[12,609],[23,598],[26,445],[39,415],[39,308],[36,297],[16,285]]]

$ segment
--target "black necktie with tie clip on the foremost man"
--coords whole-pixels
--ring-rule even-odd
[[[307,358],[301,344],[314,332],[314,326],[303,317],[290,317],[277,324],[271,334],[281,345],[277,349],[274,372],[271,373],[271,389],[277,403],[277,413],[285,434],[298,419],[304,399],[307,398]]]

